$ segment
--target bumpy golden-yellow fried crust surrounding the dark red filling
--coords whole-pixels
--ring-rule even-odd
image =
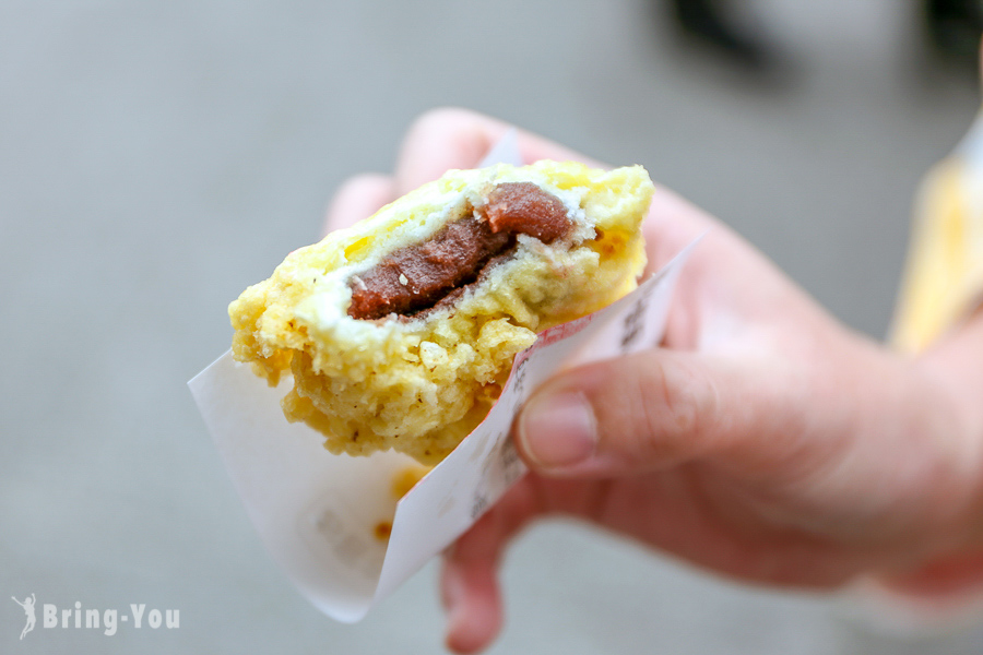
[[[428,240],[487,201],[496,184],[532,182],[558,198],[573,228],[544,245],[520,235],[452,302],[411,317],[347,314],[352,285],[388,254]],[[332,453],[395,449],[442,460],[487,415],[513,357],[536,333],[632,290],[646,264],[640,224],[654,189],[640,166],[611,171],[538,162],[451,170],[348,229],[292,252],[229,306],[233,355],[275,384],[292,421]]]

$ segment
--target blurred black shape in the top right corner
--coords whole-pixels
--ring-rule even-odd
[[[923,7],[925,36],[937,58],[976,71],[983,36],[983,2],[925,0]]]

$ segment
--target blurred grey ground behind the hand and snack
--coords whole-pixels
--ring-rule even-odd
[[[442,651],[434,564],[356,626],[295,593],[185,384],[228,347],[229,300],[427,108],[646,165],[883,336],[916,184],[980,105],[972,66],[914,1],[731,5],[751,57],[643,0],[0,1],[0,651]],[[493,653],[983,652],[983,628],[885,631],[570,523],[504,570]],[[19,642],[5,598],[32,593]],[[76,600],[180,628],[42,629],[42,604]]]

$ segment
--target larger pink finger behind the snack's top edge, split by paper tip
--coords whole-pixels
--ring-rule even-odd
[[[451,168],[474,168],[512,127],[467,109],[441,108],[422,115],[406,134],[396,165],[400,194],[439,178]],[[542,136],[519,130],[524,164],[538,159],[596,162]]]

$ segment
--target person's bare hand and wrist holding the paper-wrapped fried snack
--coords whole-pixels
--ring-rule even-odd
[[[348,180],[327,229],[449,168],[510,127],[437,109],[392,176]],[[577,159],[519,132],[525,163]],[[537,516],[577,516],[721,575],[831,590],[861,575],[938,591],[983,570],[983,312],[919,357],[837,322],[723,224],[659,188],[658,270],[706,235],[659,347],[568,370],[513,426],[531,473],[445,557],[447,645],[499,632],[502,551]]]

